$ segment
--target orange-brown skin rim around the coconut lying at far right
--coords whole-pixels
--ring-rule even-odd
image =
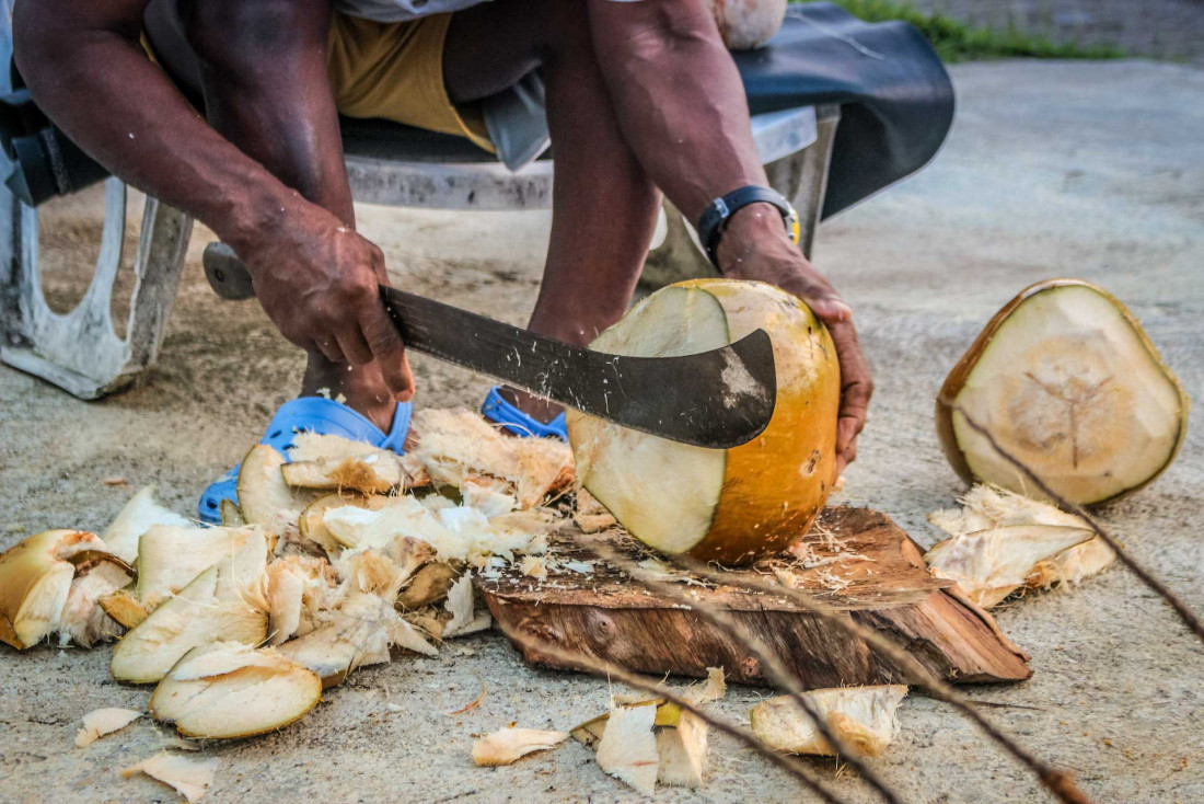
[[[1175,376],[1175,372],[1171,371],[1170,366],[1167,365],[1167,363],[1162,359],[1162,356],[1158,353],[1158,350],[1153,345],[1153,341],[1150,340],[1150,336],[1146,335],[1145,329],[1141,328],[1140,322],[1138,322],[1138,319],[1133,316],[1133,313],[1129,312],[1129,309],[1126,307],[1120,299],[1117,299],[1111,293],[1109,293],[1108,291],[1103,289],[1097,284],[1092,284],[1091,282],[1075,278],[1045,280],[1043,282],[1037,282],[1035,284],[1028,286],[1027,288],[1017,293],[1016,298],[1005,304],[1003,309],[999,310],[999,312],[995,313],[995,317],[992,317],[991,321],[987,322],[987,325],[982,329],[981,333],[979,333],[979,336],[974,339],[974,342],[970,344],[970,347],[966,350],[966,354],[963,354],[961,359],[957,360],[957,364],[954,365],[952,371],[949,372],[949,376],[945,377],[944,385],[942,385],[940,387],[940,393],[937,395],[937,416],[936,416],[937,438],[940,440],[940,448],[945,453],[945,459],[949,460],[949,465],[952,468],[955,473],[957,473],[957,476],[961,477],[967,486],[972,486],[975,482],[978,482],[979,477],[970,469],[969,463],[967,463],[966,454],[962,452],[961,445],[957,444],[957,434],[954,430],[954,404],[957,400],[957,395],[966,387],[966,381],[969,378],[970,371],[973,371],[974,366],[978,365],[979,358],[982,357],[982,352],[986,351],[986,347],[991,345],[991,341],[995,339],[995,335],[999,330],[999,327],[1002,327],[1003,322],[1007,321],[1013,312],[1015,312],[1016,307],[1019,307],[1021,304],[1023,304],[1025,301],[1027,301],[1028,299],[1033,298],[1039,293],[1052,291],[1055,288],[1075,287],[1075,286],[1090,288],[1096,293],[1098,293],[1099,295],[1105,297],[1114,305],[1116,305],[1116,310],[1121,313],[1121,317],[1125,318],[1125,321],[1129,324],[1129,327],[1133,328],[1133,331],[1137,333],[1138,339],[1141,341],[1141,345],[1145,346],[1146,351],[1150,353],[1150,357],[1158,364],[1163,374],[1167,375],[1167,377],[1178,389],[1179,405],[1180,410],[1182,411],[1182,417],[1180,418],[1179,434],[1175,439],[1175,447],[1170,452],[1170,456],[1167,458],[1167,463],[1163,464],[1162,469],[1151,475],[1145,482],[1134,486],[1133,488],[1128,488],[1117,494],[1112,494],[1106,499],[1085,501],[1085,504],[1102,505],[1104,503],[1111,503],[1121,499],[1122,497],[1127,497],[1128,494],[1132,494],[1135,491],[1145,488],[1155,480],[1157,480],[1158,476],[1167,470],[1167,466],[1174,463],[1175,457],[1179,454],[1179,450],[1182,448],[1184,440],[1187,435],[1187,411],[1191,407],[1191,400],[1187,397],[1187,392],[1184,391],[1182,383],[1180,383],[1179,378]]]

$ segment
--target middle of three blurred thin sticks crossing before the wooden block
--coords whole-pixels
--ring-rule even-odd
[[[856,750],[854,750],[840,738],[840,735],[836,733],[824,715],[821,715],[815,708],[815,704],[803,694],[805,689],[801,683],[798,683],[798,679],[796,679],[795,675],[786,669],[786,665],[781,662],[781,659],[779,659],[778,656],[743,623],[738,622],[727,612],[721,611],[718,606],[691,598],[672,583],[650,577],[642,567],[619,556],[615,551],[603,547],[596,540],[586,541],[585,545],[598,558],[614,564],[644,586],[655,589],[661,595],[690,606],[720,629],[727,632],[730,636],[739,641],[742,646],[748,650],[748,652],[751,653],[757,662],[761,663],[761,667],[766,669],[773,685],[786,692],[795,700],[798,708],[803,710],[803,714],[807,715],[807,718],[811,721],[815,730],[822,735],[828,745],[836,749],[839,756],[844,757],[845,761],[852,765],[858,774],[861,774],[862,779],[864,779],[870,787],[878,791],[879,796],[883,797],[883,800],[889,804],[901,804],[898,797],[895,794],[895,791],[892,791],[886,782],[878,777],[878,774],[875,774],[864,762],[861,761]]]

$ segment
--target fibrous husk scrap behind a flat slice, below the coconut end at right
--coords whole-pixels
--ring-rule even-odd
[[[933,511],[928,515],[928,522],[951,536],[1016,524],[1090,527],[1082,517],[1074,513],[993,486],[975,486],[960,501],[961,509]],[[1078,585],[1102,573],[1115,559],[1112,548],[1096,536],[1034,564],[1027,585],[1032,588],[1049,588],[1056,583]]]

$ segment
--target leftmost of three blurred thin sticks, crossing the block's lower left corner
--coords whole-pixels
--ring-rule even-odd
[[[663,698],[672,704],[677,704],[681,709],[692,712],[698,717],[698,720],[736,738],[757,753],[761,753],[772,763],[802,781],[808,790],[819,796],[824,802],[827,802],[827,804],[843,804],[842,799],[832,793],[822,782],[813,776],[805,767],[803,767],[803,763],[771,747],[768,744],[763,743],[760,738],[752,734],[752,732],[703,711],[700,706],[695,705],[686,698],[683,698],[672,688],[666,687],[662,683],[656,683],[655,681],[649,681],[626,670],[625,668],[619,667],[618,664],[613,664],[603,659],[596,659],[586,653],[566,651],[559,645],[554,645],[544,640],[532,639],[527,634],[520,633],[518,629],[500,620],[497,621],[497,624],[501,627],[502,633],[506,634],[512,641],[518,642],[529,651],[549,656],[561,664],[579,667],[600,679],[618,679],[630,687],[643,689],[649,694]]]

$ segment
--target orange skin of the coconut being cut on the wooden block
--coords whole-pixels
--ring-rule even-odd
[[[761,282],[695,280],[727,313],[737,341],[765,329],[773,342],[778,398],[769,426],[727,451],[719,504],[687,556],[748,564],[798,540],[824,510],[836,480],[840,365],[827,329],[798,298]]]

